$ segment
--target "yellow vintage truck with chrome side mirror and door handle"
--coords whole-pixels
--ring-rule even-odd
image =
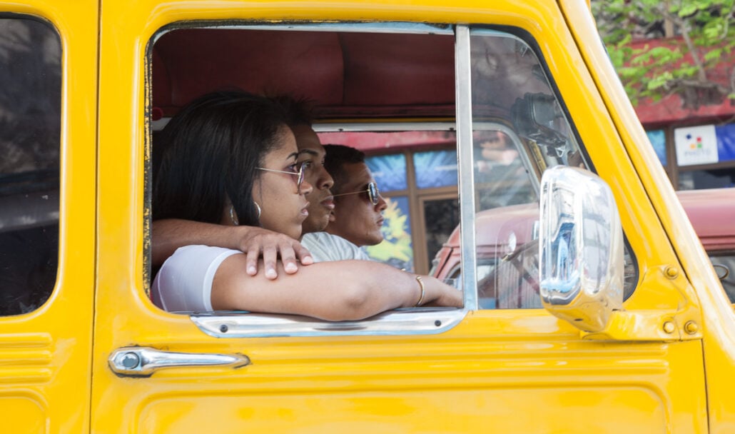
[[[0,0],[0,79],[3,433],[735,433],[733,307],[583,0]],[[456,204],[464,307],[159,310],[151,154],[221,88],[381,143],[416,271]],[[476,216],[520,204],[504,308]]]

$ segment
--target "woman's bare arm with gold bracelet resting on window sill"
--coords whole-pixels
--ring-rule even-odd
[[[365,319],[396,307],[414,307],[421,297],[415,274],[365,260],[316,263],[297,274],[268,280],[242,272],[245,257],[228,257],[212,282],[215,310],[290,313],[329,321]],[[279,264],[280,267],[280,264]],[[462,307],[462,293],[422,276],[422,305]]]

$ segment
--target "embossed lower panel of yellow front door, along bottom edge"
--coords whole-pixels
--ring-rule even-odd
[[[636,405],[620,408],[620,402]],[[559,418],[559,405],[584,418]],[[218,420],[239,421],[239,430],[276,433],[664,433],[665,410],[665,402],[653,391],[584,386],[553,391],[478,386],[470,391],[427,388],[285,397],[184,395],[148,402],[134,430],[206,431]]]

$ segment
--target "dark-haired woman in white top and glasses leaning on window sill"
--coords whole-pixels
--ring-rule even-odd
[[[308,216],[293,133],[270,100],[243,92],[211,93],[167,125],[155,174],[154,219],[246,224],[301,235]],[[388,284],[390,282],[390,284]],[[365,319],[384,310],[462,306],[459,291],[381,263],[316,263],[279,278],[245,272],[242,252],[186,246],[165,261],[153,299],[170,311],[248,310],[332,321]]]

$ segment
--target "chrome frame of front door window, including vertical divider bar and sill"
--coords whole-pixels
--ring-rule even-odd
[[[415,23],[311,23],[311,24],[242,24],[242,23],[221,23],[209,21],[191,21],[186,23],[176,23],[164,26],[148,42],[147,62],[148,75],[146,80],[152,84],[151,59],[155,41],[166,32],[176,29],[185,28],[226,28],[226,29],[260,29],[260,30],[276,30],[283,32],[298,31],[325,31],[325,32],[391,32],[391,33],[412,33],[412,34],[429,34],[431,32],[445,32],[453,35],[454,48],[454,67],[455,67],[455,121],[452,122],[406,122],[406,123],[342,123],[342,124],[315,124],[316,132],[326,131],[388,131],[388,130],[412,130],[412,129],[454,129],[456,132],[456,152],[458,159],[458,185],[457,191],[459,197],[463,198],[459,201],[460,226],[475,227],[476,214],[476,191],[474,179],[474,155],[473,155],[473,130],[476,124],[472,115],[472,65],[470,51],[470,34],[472,29],[483,29],[507,33],[516,38],[523,40],[536,55],[540,66],[546,74],[551,85],[553,95],[559,102],[567,122],[570,124],[570,132],[579,145],[579,149],[584,155],[586,161],[591,161],[584,149],[584,142],[579,138],[578,131],[573,124],[572,117],[567,110],[564,100],[560,97],[559,89],[553,81],[553,77],[548,71],[548,65],[542,57],[539,47],[523,29],[508,28],[505,26],[490,25],[451,25],[444,26],[442,24],[415,24]],[[147,86],[150,88],[151,86]],[[152,93],[149,92],[148,104],[150,109]],[[150,113],[150,110],[148,110]],[[148,149],[151,149],[152,122],[150,118],[147,121]],[[156,127],[162,127],[162,122],[158,122]],[[516,133],[511,129],[503,131],[510,133],[516,138]],[[523,143],[523,140],[520,140]],[[150,154],[150,152],[148,152]],[[534,168],[528,155],[523,155],[523,165],[527,168]],[[406,161],[408,165],[412,162]],[[151,162],[146,162],[150,169]],[[592,164],[589,169],[594,171]],[[148,170],[150,171],[150,170]],[[537,170],[532,170],[535,175],[539,175]],[[539,178],[540,180],[540,178]],[[151,179],[146,178],[146,206],[151,206],[150,189]],[[538,185],[534,185],[538,189]],[[151,213],[145,213],[150,216]],[[149,218],[149,217],[148,217]],[[146,222],[146,227],[150,227],[150,221]],[[476,258],[476,235],[474,230],[462,230],[461,233],[461,269],[462,269],[462,288],[476,288],[477,274],[477,258]],[[632,253],[632,252],[631,252]],[[146,268],[150,266],[150,247],[146,247]],[[634,259],[637,271],[637,262]],[[146,285],[150,280],[146,279]],[[637,279],[636,279],[637,281]],[[637,286],[637,285],[635,285]],[[635,289],[635,288],[634,288]],[[465,305],[461,309],[455,308],[404,308],[391,310],[373,316],[370,319],[362,321],[340,321],[329,322],[317,319],[311,319],[302,316],[284,316],[276,314],[248,313],[248,312],[212,312],[212,313],[189,313],[189,318],[194,324],[207,335],[217,338],[243,338],[243,337],[282,337],[282,336],[315,336],[315,335],[415,335],[415,334],[433,334],[445,332],[456,324],[465,319],[467,313],[478,310],[478,294],[476,291],[465,291]]]

